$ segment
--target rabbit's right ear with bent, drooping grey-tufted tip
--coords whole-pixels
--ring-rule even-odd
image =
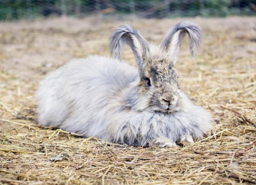
[[[175,25],[160,44],[160,48],[170,53],[173,64],[176,63],[180,44],[186,34],[188,34],[190,52],[196,58],[195,49],[199,50],[202,45],[202,30],[194,22],[184,20]]]

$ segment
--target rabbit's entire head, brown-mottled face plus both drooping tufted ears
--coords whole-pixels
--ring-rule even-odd
[[[110,37],[112,56],[119,58],[123,42],[130,45],[139,67],[140,83],[138,93],[142,109],[160,112],[181,110],[184,94],[179,89],[178,72],[174,65],[183,38],[188,34],[191,54],[195,57],[195,48],[199,49],[202,34],[195,23],[182,21],[172,28],[159,47],[148,42],[133,27],[118,27]],[[140,108],[138,108],[140,109]]]

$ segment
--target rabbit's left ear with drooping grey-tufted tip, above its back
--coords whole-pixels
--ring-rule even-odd
[[[134,54],[139,70],[142,70],[143,58],[148,53],[148,42],[130,25],[116,28],[116,30],[110,36],[109,47],[111,50],[111,56],[121,60],[120,52],[123,50],[124,43],[128,44]]]

